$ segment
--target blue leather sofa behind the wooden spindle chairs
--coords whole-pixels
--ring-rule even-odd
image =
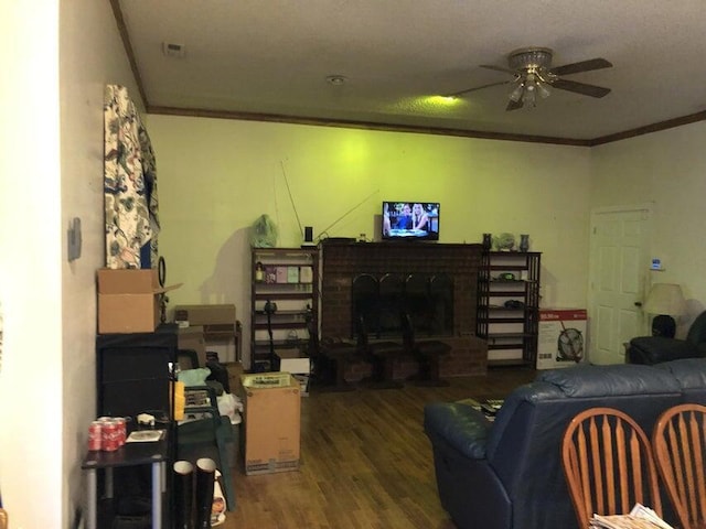
[[[441,505],[459,529],[578,529],[560,462],[571,418],[617,408],[651,434],[663,410],[699,399],[706,359],[541,371],[505,398],[494,422],[463,403],[428,403]]]

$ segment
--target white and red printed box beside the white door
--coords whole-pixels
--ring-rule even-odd
[[[585,309],[541,309],[537,369],[571,367],[586,361]]]

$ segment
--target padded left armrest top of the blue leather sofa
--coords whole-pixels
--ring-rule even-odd
[[[424,429],[431,440],[442,439],[469,458],[485,457],[492,422],[468,404],[434,402],[425,406]]]

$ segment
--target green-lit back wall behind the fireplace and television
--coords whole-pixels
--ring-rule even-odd
[[[328,236],[372,239],[384,199],[440,202],[441,242],[527,233],[543,252],[543,304],[585,306],[588,149],[167,116],[147,123],[158,160],[160,253],[168,282],[184,283],[171,306],[235,303],[247,331],[248,230],[268,214],[278,246],[299,246],[289,192],[317,237],[333,225]]]

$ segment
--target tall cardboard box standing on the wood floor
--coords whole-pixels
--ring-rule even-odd
[[[271,384],[269,384],[271,382]],[[300,385],[291,375],[243,375],[242,453],[245,474],[270,474],[299,468]]]

